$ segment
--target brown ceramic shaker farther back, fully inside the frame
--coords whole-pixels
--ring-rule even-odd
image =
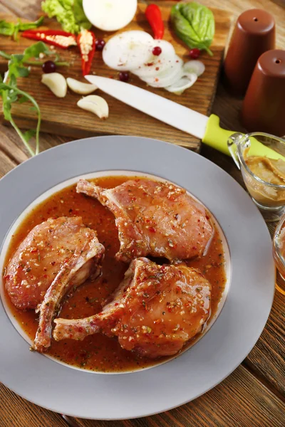
[[[249,9],[237,19],[227,56],[224,83],[234,95],[244,95],[262,53],[275,48],[275,21],[261,9]]]

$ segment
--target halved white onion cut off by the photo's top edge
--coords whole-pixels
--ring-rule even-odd
[[[103,31],[124,28],[133,20],[137,8],[138,0],[83,0],[88,21]]]

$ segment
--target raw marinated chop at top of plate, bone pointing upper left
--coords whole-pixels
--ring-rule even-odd
[[[113,212],[120,239],[118,260],[201,256],[213,236],[204,207],[173,184],[135,179],[103,189],[81,179],[77,191],[95,197]]]

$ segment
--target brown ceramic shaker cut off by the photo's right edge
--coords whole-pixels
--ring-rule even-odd
[[[285,135],[285,51],[267,51],[254,68],[242,105],[249,132]]]

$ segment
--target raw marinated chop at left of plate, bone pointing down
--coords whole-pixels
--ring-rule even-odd
[[[51,322],[64,295],[100,274],[105,249],[81,217],[48,219],[22,241],[6,268],[6,289],[21,310],[40,312],[33,348],[51,344]]]

